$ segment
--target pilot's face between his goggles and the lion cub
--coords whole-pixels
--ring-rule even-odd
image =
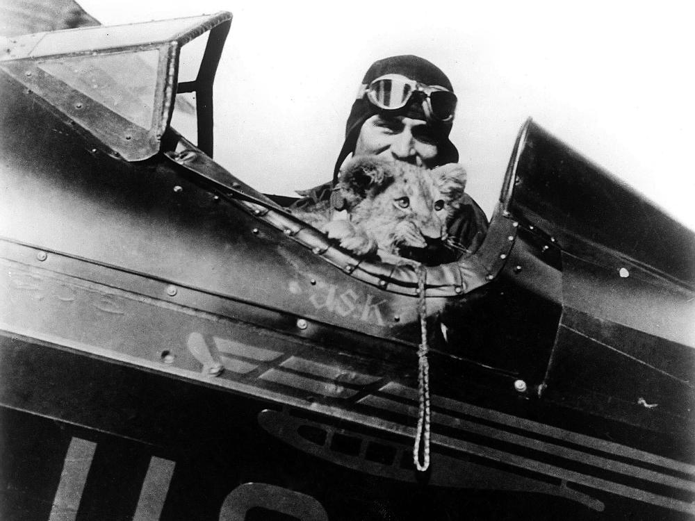
[[[433,167],[439,152],[434,133],[424,119],[373,115],[363,123],[354,156],[376,156]]]

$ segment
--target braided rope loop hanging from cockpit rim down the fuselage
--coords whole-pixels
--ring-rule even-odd
[[[418,269],[418,315],[420,315],[420,348],[418,349],[418,427],[415,433],[413,461],[420,472],[430,467],[430,362],[427,361],[427,302],[425,301],[425,282],[427,270],[421,265]],[[422,453],[422,460],[420,460]]]

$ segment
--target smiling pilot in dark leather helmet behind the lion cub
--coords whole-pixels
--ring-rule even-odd
[[[345,125],[345,143],[338,154],[333,181],[310,190],[293,208],[330,199],[334,212],[344,209],[334,191],[341,166],[350,156],[376,154],[395,161],[433,168],[456,163],[459,152],[449,140],[457,98],[449,78],[434,64],[418,56],[392,56],[369,67]],[[434,264],[457,260],[480,246],[488,222],[469,196],[448,224],[450,244],[432,246]]]

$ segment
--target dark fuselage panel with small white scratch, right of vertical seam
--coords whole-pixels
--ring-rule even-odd
[[[566,310],[544,396],[680,438],[692,452],[694,360],[689,347]]]

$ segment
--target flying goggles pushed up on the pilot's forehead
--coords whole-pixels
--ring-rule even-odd
[[[371,104],[382,110],[399,110],[422,99],[428,121],[450,122],[456,110],[456,94],[439,85],[425,85],[401,74],[384,74],[369,85],[362,85],[358,98],[367,96]]]

